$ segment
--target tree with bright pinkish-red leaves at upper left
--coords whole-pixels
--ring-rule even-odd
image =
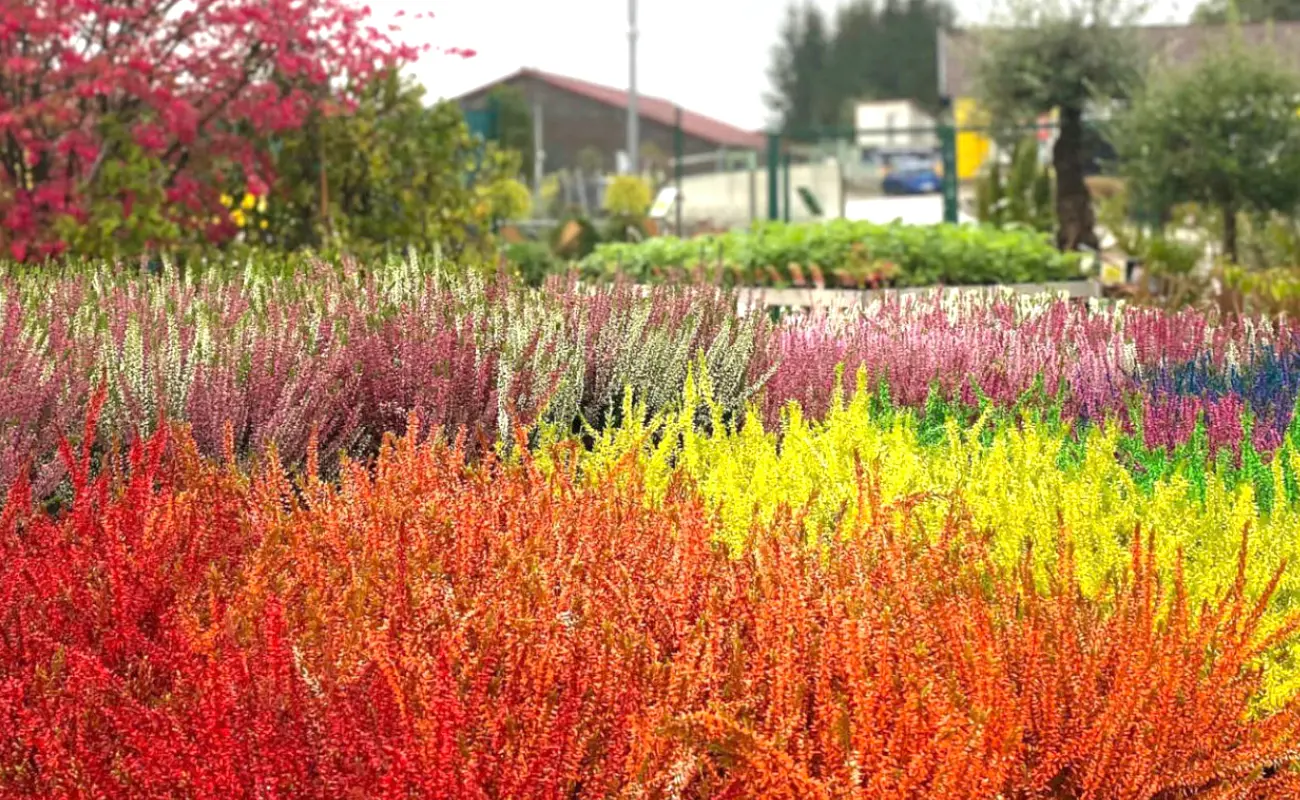
[[[0,0],[0,252],[58,254],[87,225],[230,233],[218,196],[265,193],[277,131],[416,57],[369,18],[348,0]]]

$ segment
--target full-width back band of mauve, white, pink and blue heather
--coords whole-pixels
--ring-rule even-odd
[[[1268,458],[1300,388],[1290,324],[1089,308],[1050,299],[909,299],[835,319],[771,325],[716,289],[642,290],[448,271],[438,259],[251,263],[138,276],[107,267],[9,268],[0,276],[0,485],[64,479],[60,436],[108,392],[98,447],[161,415],[188,423],[205,454],[272,441],[302,462],[373,453],[417,411],[473,446],[538,421],[590,434],[620,423],[630,392],[677,407],[688,368],[707,368],[724,420],[753,402],[766,424],[797,401],[827,414],[837,368],[864,372],[896,406],[1048,407],[1071,427],[1114,418],[1148,450],[1192,441]],[[703,420],[701,420],[703,421]]]

